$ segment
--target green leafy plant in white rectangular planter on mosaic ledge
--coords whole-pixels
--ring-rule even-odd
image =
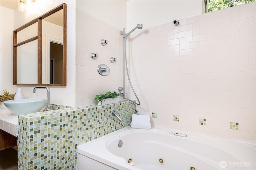
[[[95,100],[98,100],[98,105],[118,103],[118,96],[120,96],[116,90],[114,92],[106,92],[105,94],[97,94]]]

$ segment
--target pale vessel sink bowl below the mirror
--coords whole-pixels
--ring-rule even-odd
[[[4,101],[4,105],[14,115],[22,115],[40,111],[46,105],[46,102],[46,99],[17,99]]]

